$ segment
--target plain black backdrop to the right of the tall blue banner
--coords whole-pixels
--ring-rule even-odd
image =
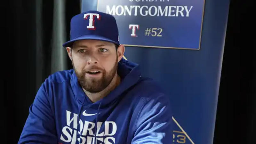
[[[256,144],[256,54],[253,32],[256,25],[253,11],[252,1],[230,1],[215,144]]]

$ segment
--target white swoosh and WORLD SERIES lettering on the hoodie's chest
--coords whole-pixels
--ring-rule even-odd
[[[86,111],[83,112],[83,115],[92,116],[94,114],[88,114]],[[97,115],[97,114],[96,114]],[[73,116],[73,117],[72,117]],[[67,124],[62,128],[62,133],[60,135],[60,140],[66,143],[76,144],[76,141],[79,144],[91,144],[95,141],[95,123],[89,121],[82,121],[79,119],[78,114],[72,113],[66,110],[66,121]],[[78,124],[77,124],[78,122]],[[73,125],[73,126],[72,126]],[[101,128],[102,127],[102,128]],[[97,132],[96,140],[102,144],[114,144],[115,143],[115,134],[117,126],[113,121],[97,122]]]

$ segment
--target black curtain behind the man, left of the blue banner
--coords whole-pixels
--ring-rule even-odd
[[[36,92],[44,80],[52,74],[53,12],[55,0],[12,0],[3,2],[4,38],[2,42],[2,62],[4,67],[3,107],[4,139],[17,143],[28,108],[33,103]],[[81,12],[80,0],[65,2],[65,41],[69,39],[70,20]],[[56,4],[56,1],[55,1]],[[40,10],[40,11],[39,11]],[[2,23],[2,24],[3,24]],[[2,26],[1,26],[2,27]],[[65,48],[63,48],[65,49]],[[4,51],[3,51],[4,50]],[[67,60],[66,68],[72,65]]]

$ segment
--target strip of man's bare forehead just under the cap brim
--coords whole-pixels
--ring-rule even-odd
[[[100,41],[100,40],[92,40],[92,39],[84,39],[84,40],[78,40],[73,43],[73,47],[99,47],[99,46],[113,46],[115,47],[115,44],[106,42],[106,41]]]

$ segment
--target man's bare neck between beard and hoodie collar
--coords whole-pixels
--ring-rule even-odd
[[[89,99],[94,103],[96,101],[99,101],[100,99],[104,98],[105,96],[107,96],[111,91],[113,91],[116,86],[118,86],[121,82],[121,78],[119,75],[115,75],[112,79],[112,81],[110,82],[110,84],[102,91],[100,92],[96,92],[96,93],[92,93],[92,92],[88,92],[86,91],[84,88],[84,92],[85,94],[89,97]]]

